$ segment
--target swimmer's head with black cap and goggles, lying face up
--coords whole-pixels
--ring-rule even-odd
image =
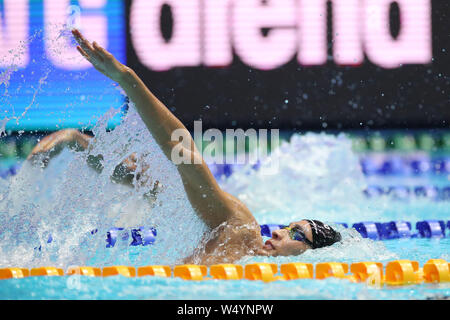
[[[290,256],[340,240],[340,233],[332,227],[317,220],[301,220],[272,232],[272,239],[266,241],[264,249],[272,256]]]

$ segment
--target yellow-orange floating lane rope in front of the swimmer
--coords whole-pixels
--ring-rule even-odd
[[[138,277],[172,277],[170,266],[144,266],[139,267],[137,270]],[[350,274],[348,273],[349,271]],[[0,269],[0,279],[63,275],[62,269],[54,267],[33,268],[30,271],[24,268]],[[70,267],[65,275],[136,277],[136,268],[131,266],[110,266],[104,267],[100,273],[99,268]],[[342,262],[321,262],[315,266],[310,263],[295,262],[281,264],[280,267],[274,263],[252,263],[245,266],[217,264],[209,267],[209,277],[208,267],[204,265],[177,265],[173,268],[173,278],[181,278],[186,281],[249,280],[269,283],[299,279],[322,280],[330,277],[348,280],[353,283],[366,283],[379,288],[384,285],[404,286],[421,283],[449,283],[450,263],[443,259],[430,259],[422,268],[417,261],[411,260],[390,261],[385,268],[381,262],[373,261],[352,263],[350,268],[347,263]]]

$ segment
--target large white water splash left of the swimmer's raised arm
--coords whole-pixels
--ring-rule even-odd
[[[156,227],[155,245],[143,250],[134,264],[172,264],[193,250],[206,227],[190,206],[175,166],[164,157],[134,108],[112,132],[105,130],[109,116],[95,127],[89,150],[65,149],[45,169],[27,162],[16,176],[2,182],[2,266],[129,263],[131,240],[105,248],[106,231],[114,226]],[[113,183],[114,168],[132,152],[141,159],[139,166],[150,167],[146,181],[135,179],[134,188]],[[99,154],[104,160],[97,174],[86,160]],[[150,203],[144,195],[154,181],[162,183],[156,201]],[[94,229],[99,231],[92,235]],[[47,243],[49,235],[51,243]],[[40,251],[35,249],[39,246]]]

